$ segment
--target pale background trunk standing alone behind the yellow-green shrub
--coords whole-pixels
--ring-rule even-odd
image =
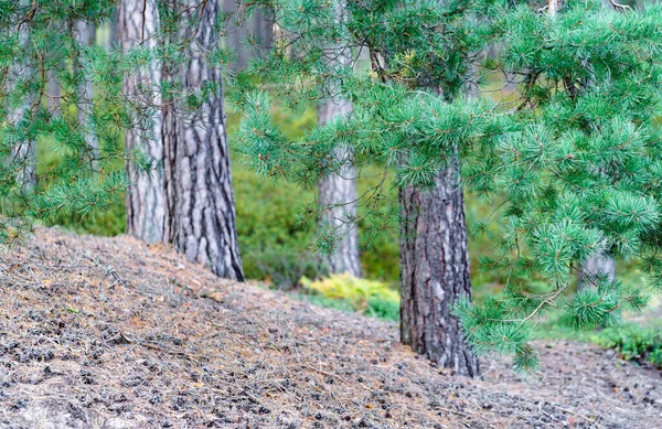
[[[345,17],[344,1],[335,1],[337,19],[342,22]],[[328,64],[332,71],[341,72],[351,66],[352,52],[346,46],[330,46]],[[352,104],[342,99],[338,85],[329,85],[330,96],[318,105],[318,122],[320,125],[337,117],[346,117],[352,111]],[[361,277],[361,259],[359,254],[359,230],[356,227],[356,171],[354,154],[350,147],[335,150],[335,161],[342,163],[340,171],[334,172],[319,183],[318,202],[323,207],[320,223],[333,227],[339,234],[335,251],[324,258],[330,272],[348,272]]]

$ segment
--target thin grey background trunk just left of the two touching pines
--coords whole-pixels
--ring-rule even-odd
[[[96,42],[96,28],[88,22],[78,21],[74,29],[74,36],[79,45],[92,45]],[[93,105],[93,87],[92,79],[85,74],[81,64],[81,58],[74,58],[74,74],[83,74],[84,77],[78,85],[78,105],[77,105],[77,117],[78,127],[84,136],[85,143],[87,144],[87,151],[89,153],[89,160],[93,170],[98,169],[98,155],[99,155],[99,142],[94,130],[94,121],[92,120],[92,114],[94,109]]]

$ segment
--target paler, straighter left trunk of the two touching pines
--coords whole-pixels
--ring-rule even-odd
[[[145,9],[145,10],[143,10]],[[152,37],[157,31],[158,15],[152,1],[121,0],[118,12],[118,26],[122,49],[134,49],[139,45],[153,47]],[[136,115],[135,126],[127,130],[127,150],[145,151],[152,160],[163,159],[163,141],[161,137],[161,112],[159,92],[151,92],[159,85],[161,78],[160,65],[153,64],[149,71],[127,76],[124,82],[125,94],[134,99],[136,105],[152,105],[153,107]],[[154,99],[146,99],[149,94],[156,94]],[[138,171],[127,163],[127,174],[131,181],[127,189],[127,233],[147,243],[158,243],[166,238],[166,192],[161,165],[149,173]]]

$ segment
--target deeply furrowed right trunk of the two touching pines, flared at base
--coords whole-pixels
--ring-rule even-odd
[[[209,266],[220,277],[243,280],[222,76],[204,58],[204,53],[218,42],[213,29],[220,11],[220,2],[210,1],[202,8],[200,24],[184,29],[184,40],[191,40],[190,62],[179,76],[184,89],[195,90],[212,83],[215,86],[190,115],[171,110],[166,114],[169,238],[189,260]]]

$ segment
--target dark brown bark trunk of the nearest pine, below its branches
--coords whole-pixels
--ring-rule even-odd
[[[402,342],[439,366],[476,376],[478,360],[451,314],[461,296],[471,297],[459,162],[449,162],[434,190],[406,187],[401,203]]]

